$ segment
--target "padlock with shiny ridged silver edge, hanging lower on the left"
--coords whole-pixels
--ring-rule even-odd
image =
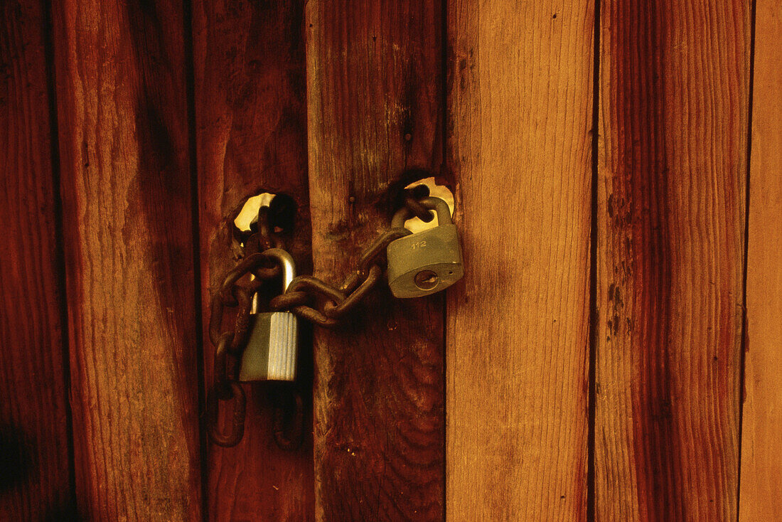
[[[281,248],[265,250],[282,266],[282,291],[287,290],[296,276],[291,254]],[[239,365],[239,380],[296,379],[298,352],[298,321],[289,311],[269,311],[250,315],[253,321],[247,345]]]

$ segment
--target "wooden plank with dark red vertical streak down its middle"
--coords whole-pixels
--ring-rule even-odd
[[[749,8],[601,2],[601,520],[737,515]]]

